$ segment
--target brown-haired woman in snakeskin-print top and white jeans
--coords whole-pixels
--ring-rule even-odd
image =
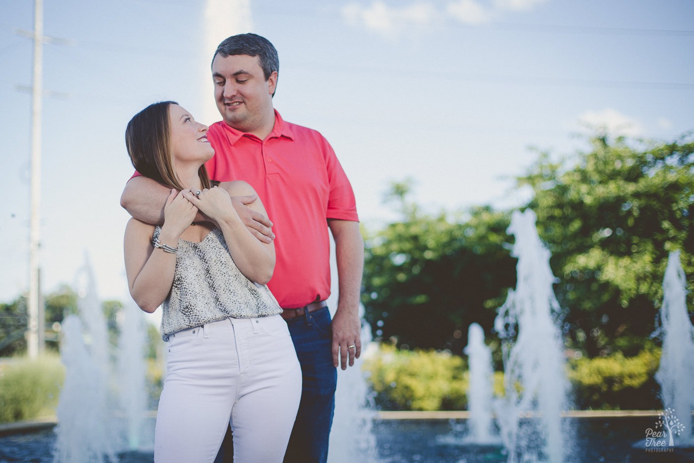
[[[231,204],[230,194],[255,194],[250,185],[210,187],[207,130],[173,101],[148,106],[126,128],[135,169],[171,187],[164,224],[130,219],[124,244],[130,294],[145,312],[162,305],[169,344],[154,459],[212,462],[229,423],[235,461],[281,462],[301,369],[265,286],[275,251]],[[260,200],[250,207],[265,214]],[[198,210],[217,225],[194,223]]]

